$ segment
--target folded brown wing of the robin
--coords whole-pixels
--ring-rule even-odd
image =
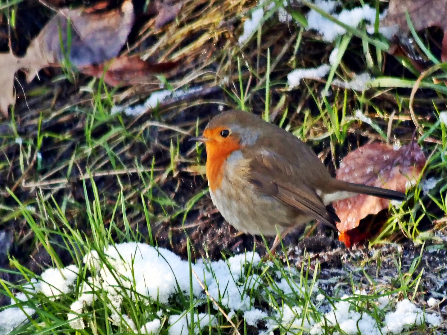
[[[334,227],[334,218],[315,190],[299,177],[299,171],[280,156],[266,150],[248,151],[249,181],[261,193],[277,198],[297,212]],[[246,157],[246,155],[244,155]]]

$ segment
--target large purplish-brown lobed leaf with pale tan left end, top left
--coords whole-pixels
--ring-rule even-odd
[[[82,8],[60,10],[31,42],[23,58],[12,53],[0,54],[0,84],[3,88],[0,111],[7,117],[8,106],[15,102],[13,82],[17,70],[27,68],[26,79],[31,81],[43,67],[62,63],[64,50],[68,49],[67,57],[76,67],[113,59],[126,42],[133,22],[131,0],[125,0],[121,8],[105,13],[92,13]],[[71,38],[67,38],[68,31]]]

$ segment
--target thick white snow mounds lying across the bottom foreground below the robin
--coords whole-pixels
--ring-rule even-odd
[[[248,274],[247,269],[257,268],[260,262],[261,257],[257,253],[247,252],[230,257],[228,260],[201,260],[196,264],[189,264],[169,250],[142,243],[121,243],[105,247],[101,257],[97,251],[91,251],[85,255],[84,263],[93,275],[88,277],[86,282],[79,284],[78,297],[71,305],[72,312],[68,313],[67,321],[74,329],[88,327],[89,322],[85,322],[83,317],[88,310],[84,309],[93,305],[98,293],[105,293],[110,301],[107,307],[110,310],[109,317],[112,324],[125,327],[129,332],[156,335],[160,332],[161,319],[164,320],[163,315],[166,315],[167,322],[164,322],[164,327],[168,326],[169,335],[206,334],[209,332],[207,327],[215,326],[217,318],[222,316],[211,303],[209,306],[213,308],[206,309],[207,313],[198,313],[196,307],[200,304],[206,306],[208,299],[190,272],[190,266],[199,280],[206,283],[209,295],[228,311],[229,318],[234,317],[236,313],[239,315],[243,313],[245,322],[253,327],[257,327],[258,322],[262,321],[262,326],[265,328],[259,330],[260,335],[269,335],[278,327],[281,329],[288,327],[291,332],[302,330],[304,327],[310,330],[310,334],[325,334],[327,327],[336,324],[346,334],[400,334],[404,329],[412,329],[415,324],[425,322],[431,327],[436,327],[442,321],[437,314],[424,313],[424,310],[409,300],[398,302],[395,310],[390,311],[392,305],[390,296],[371,298],[370,302],[382,310],[382,313],[374,314],[374,311],[363,304],[363,299],[358,299],[359,295],[367,294],[364,290],[356,290],[352,297],[342,297],[342,300],[335,302],[334,305],[331,302],[322,305],[325,296],[320,292],[318,285],[324,285],[325,281],[319,280],[311,291],[310,287],[303,285],[303,282],[296,277],[299,276],[299,272],[295,268],[284,268],[283,271],[276,273],[279,280],[267,287],[270,291],[268,294],[271,297],[278,297],[277,292],[281,292],[281,297],[286,294],[293,299],[290,301],[295,301],[296,304],[310,298],[321,314],[327,313],[320,318],[309,309],[304,309],[304,305],[287,306],[285,301],[288,299],[277,310],[254,308],[253,304],[258,305],[254,297],[250,296],[250,292],[253,292],[252,289],[259,292],[261,277],[253,272]],[[261,264],[261,266],[262,271],[265,271],[265,267],[269,265]],[[74,265],[60,270],[48,269],[42,273],[42,281],[30,286],[28,292],[45,292],[51,299],[55,299],[54,295],[61,293],[73,294],[77,274],[78,269]],[[192,292],[190,292],[191,277]],[[333,279],[337,281],[336,277]],[[166,306],[154,310],[152,314],[148,313],[146,318],[152,321],[142,327],[141,324],[136,325],[136,322],[122,310],[122,297],[132,297],[135,291],[140,295],[140,302],[144,302],[146,297],[147,304]],[[177,307],[176,314],[169,315],[171,314],[169,304],[173,299],[178,301],[176,294],[179,294],[179,291],[185,296],[192,293],[197,298],[199,305],[194,306],[192,319],[190,310],[181,311]],[[26,302],[28,296],[25,293],[18,293],[15,299]],[[427,303],[429,306],[436,306],[437,300],[433,297]],[[361,309],[358,309],[358,306],[361,306]],[[14,327],[27,322],[35,312],[25,304],[21,308],[23,310],[13,306],[12,302],[10,308],[0,312],[0,335],[8,334]],[[377,324],[375,319],[377,317],[380,318],[380,324]],[[385,326],[381,327],[382,324]]]

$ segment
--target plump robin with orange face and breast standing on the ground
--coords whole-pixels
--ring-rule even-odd
[[[304,142],[252,113],[220,113],[192,139],[205,143],[211,199],[223,218],[244,233],[276,235],[272,250],[279,234],[312,219],[334,227],[333,201],[358,193],[405,199],[401,192],[334,179]]]

